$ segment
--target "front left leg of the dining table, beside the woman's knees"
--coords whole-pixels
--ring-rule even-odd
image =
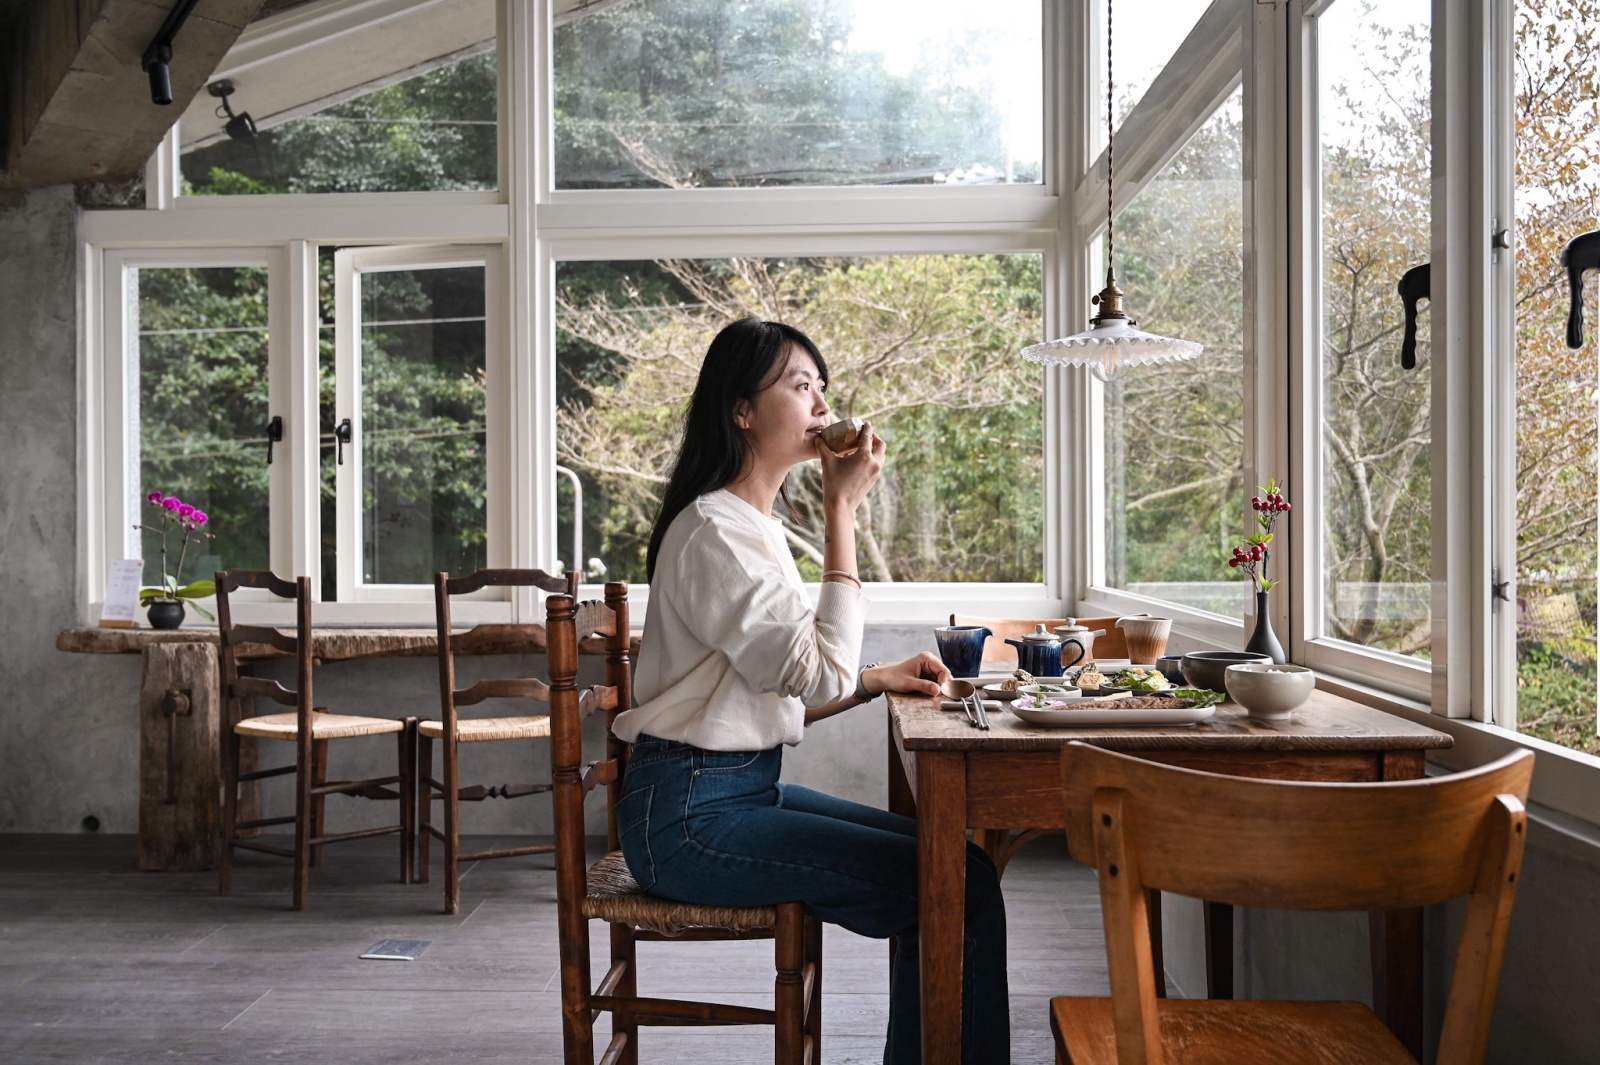
[[[962,1060],[962,927],[966,916],[966,758],[917,753],[917,924],[922,1060]]]

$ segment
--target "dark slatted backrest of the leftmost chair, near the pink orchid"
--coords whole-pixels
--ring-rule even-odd
[[[232,731],[245,713],[245,699],[261,696],[299,715],[301,736],[310,736],[312,713],[312,632],[310,577],[285,580],[269,569],[219,569],[216,574],[216,627],[221,638],[222,734]],[[272,595],[294,600],[294,635],[288,636],[266,625],[235,625],[229,595],[238,588],[266,588]],[[267,644],[294,656],[294,688],[238,672],[240,644]]]

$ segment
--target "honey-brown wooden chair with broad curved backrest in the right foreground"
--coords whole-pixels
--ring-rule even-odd
[[[1274,910],[1408,910],[1470,895],[1437,1060],[1483,1060],[1531,752],[1432,780],[1304,784],[1069,744],[1061,777],[1072,857],[1099,870],[1110,998],[1050,999],[1058,1062],[1414,1065],[1360,1003],[1157,999],[1150,888]]]

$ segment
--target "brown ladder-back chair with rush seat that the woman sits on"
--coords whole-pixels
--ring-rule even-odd
[[[594,1022],[611,1014],[608,1065],[638,1060],[643,1025],[773,1025],[779,1065],[822,1057],[822,926],[798,902],[776,907],[701,907],[656,899],[638,889],[616,835],[616,800],[627,744],[611,734],[619,710],[632,705],[627,585],[608,584],[605,603],[547,600],[550,718],[555,729],[550,779],[555,784],[555,899],[562,948],[562,1038],[566,1065],[594,1065]],[[602,635],[606,688],[576,688],[578,641]],[[605,710],[606,756],[582,766],[582,718]],[[605,785],[606,856],[589,865],[584,852],[584,796]],[[590,990],[589,921],[611,932],[611,966]],[[640,998],[635,943],[640,940],[771,939],[776,953],[774,1009]]]

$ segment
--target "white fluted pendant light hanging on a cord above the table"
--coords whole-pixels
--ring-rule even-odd
[[[1106,288],[1093,297],[1099,313],[1090,318],[1083,333],[1045,341],[1022,349],[1022,358],[1045,366],[1088,366],[1101,381],[1112,381],[1130,366],[1170,363],[1194,358],[1202,347],[1194,341],[1178,341],[1134,329],[1138,325],[1122,309],[1123,291],[1117,288],[1117,230],[1114,198],[1117,195],[1117,126],[1112,117],[1115,83],[1110,70],[1110,6],[1106,0]]]

